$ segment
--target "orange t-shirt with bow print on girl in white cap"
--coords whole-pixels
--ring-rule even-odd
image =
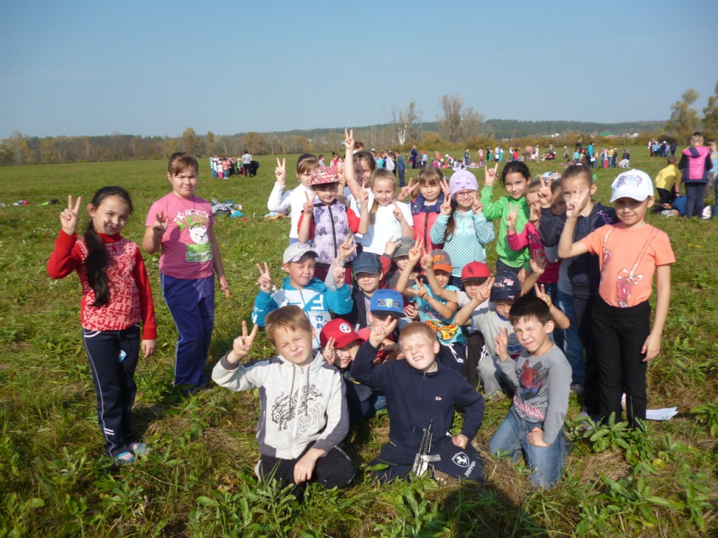
[[[602,226],[581,241],[589,253],[599,254],[598,293],[619,308],[647,301],[656,267],[676,262],[668,234],[648,224],[630,229],[622,223]]]

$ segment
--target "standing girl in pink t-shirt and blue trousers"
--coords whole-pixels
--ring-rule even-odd
[[[199,390],[208,380],[207,360],[215,323],[215,273],[229,298],[214,230],[212,208],[195,196],[197,159],[172,154],[167,165],[172,192],[154,202],[145,222],[142,248],[148,254],[162,247],[159,276],[162,296],[180,333],[174,354],[174,384]]]

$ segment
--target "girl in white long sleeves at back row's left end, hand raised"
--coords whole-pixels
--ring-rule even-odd
[[[274,169],[276,183],[269,194],[267,209],[277,213],[289,210],[289,214],[292,216],[292,224],[289,227],[289,245],[299,242],[297,234],[299,215],[302,214],[302,207],[307,201],[307,195],[312,194],[309,182],[312,180],[312,172],[317,168],[317,164],[319,164],[319,159],[312,154],[299,156],[296,168],[299,185],[294,190],[284,192],[286,188],[286,159],[281,159],[281,161],[276,159],[276,168]]]

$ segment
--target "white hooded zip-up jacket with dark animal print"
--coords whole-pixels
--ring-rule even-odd
[[[259,389],[259,453],[292,460],[307,445],[332,450],[349,431],[342,376],[318,351],[303,370],[283,357],[215,364],[212,379],[230,390]]]

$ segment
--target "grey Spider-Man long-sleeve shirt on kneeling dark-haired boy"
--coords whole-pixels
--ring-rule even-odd
[[[564,428],[569,408],[571,365],[557,346],[551,346],[540,357],[526,351],[513,361],[499,361],[498,366],[516,387],[513,407],[521,420],[541,425],[544,443],[550,445]]]

